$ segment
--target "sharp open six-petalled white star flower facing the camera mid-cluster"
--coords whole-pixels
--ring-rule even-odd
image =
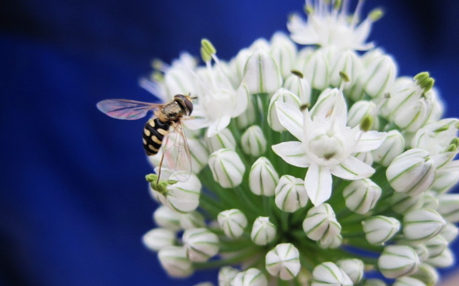
[[[332,174],[357,180],[375,172],[352,153],[376,149],[385,134],[373,131],[361,133],[358,127],[347,127],[346,103],[338,90],[335,91],[333,107],[323,105],[321,109],[316,109],[313,119],[307,111],[303,116],[298,109],[286,103],[278,102],[276,107],[280,123],[300,141],[276,144],[272,150],[287,163],[308,168],[304,185],[315,206],[330,198]]]

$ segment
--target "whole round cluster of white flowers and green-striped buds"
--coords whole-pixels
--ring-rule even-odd
[[[386,285],[372,269],[425,286],[452,265],[459,120],[441,119],[428,73],[400,77],[366,43],[381,11],[360,21],[362,2],[350,14],[347,0],[306,0],[293,41],[258,39],[230,61],[204,39],[202,66],[155,62],[143,87],[197,96],[184,120],[193,174],[164,170],[161,188],[147,176],[161,207],[143,241],[169,275],[218,266],[220,286]]]

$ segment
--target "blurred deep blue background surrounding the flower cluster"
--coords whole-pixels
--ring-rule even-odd
[[[355,2],[354,2],[355,3]],[[145,122],[114,120],[106,98],[154,101],[137,82],[150,60],[199,55],[209,38],[230,59],[286,31],[301,0],[16,0],[0,4],[0,285],[193,285],[173,280],[141,236],[156,208],[144,175]],[[429,71],[459,116],[459,4],[372,0],[371,40],[399,74]],[[455,244],[455,251],[457,250]]]

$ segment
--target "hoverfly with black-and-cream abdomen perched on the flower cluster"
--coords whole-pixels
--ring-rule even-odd
[[[149,156],[157,154],[163,146],[157,183],[164,159],[175,176],[180,181],[186,181],[191,174],[191,156],[182,119],[193,111],[194,98],[189,95],[175,95],[171,101],[164,104],[106,99],[98,102],[97,108],[110,117],[127,120],[145,117],[149,111],[154,110],[153,117],[144,127],[143,146]]]

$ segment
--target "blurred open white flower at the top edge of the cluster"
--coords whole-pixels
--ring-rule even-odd
[[[370,17],[358,24],[359,5],[355,9],[353,20],[349,22],[347,7],[334,6],[334,2],[323,0],[306,1],[308,22],[294,15],[289,19],[287,28],[292,33],[293,41],[303,45],[335,46],[342,50],[368,50],[374,45],[365,43],[373,20]]]

